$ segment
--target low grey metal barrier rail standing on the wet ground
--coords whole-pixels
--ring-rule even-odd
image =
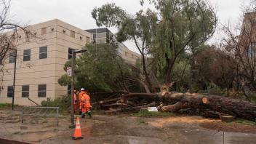
[[[56,125],[59,123],[59,107],[24,107],[21,111],[21,122],[25,116],[55,117]]]

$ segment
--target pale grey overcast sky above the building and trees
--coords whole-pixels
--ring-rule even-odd
[[[241,7],[249,0],[209,0],[217,8],[219,23],[236,23],[242,17]],[[105,3],[116,3],[117,6],[135,14],[140,7],[140,0],[12,0],[11,15],[16,21],[28,25],[47,20],[60,19],[81,29],[96,28],[91,16],[94,7]],[[113,29],[112,29],[113,30]],[[113,32],[116,32],[113,30]],[[211,41],[217,41],[220,33],[215,33]],[[137,52],[132,42],[125,43],[129,49]]]

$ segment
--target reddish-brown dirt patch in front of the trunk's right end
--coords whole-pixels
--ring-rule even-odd
[[[236,122],[226,123],[226,122],[205,122],[200,124],[201,127],[206,129],[213,129],[217,131],[224,132],[241,132],[241,133],[252,133],[256,134],[256,125],[249,124],[238,124]]]

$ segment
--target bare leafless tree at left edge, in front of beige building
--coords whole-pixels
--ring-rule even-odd
[[[14,51],[21,39],[28,41],[36,37],[28,27],[15,23],[9,16],[10,0],[0,0],[0,83],[4,76],[4,61],[7,56],[15,56]],[[21,36],[24,36],[21,38]],[[16,57],[17,58],[17,57]],[[2,89],[2,84],[0,84]]]

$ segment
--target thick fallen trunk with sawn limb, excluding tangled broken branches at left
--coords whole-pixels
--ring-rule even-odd
[[[165,95],[138,93],[123,95],[123,97],[159,98],[163,102],[176,102],[173,105],[159,105],[159,111],[177,112],[184,108],[195,108],[204,111],[204,114],[209,112],[224,113],[252,121],[255,121],[256,118],[256,105],[254,103],[217,95],[168,92]]]

